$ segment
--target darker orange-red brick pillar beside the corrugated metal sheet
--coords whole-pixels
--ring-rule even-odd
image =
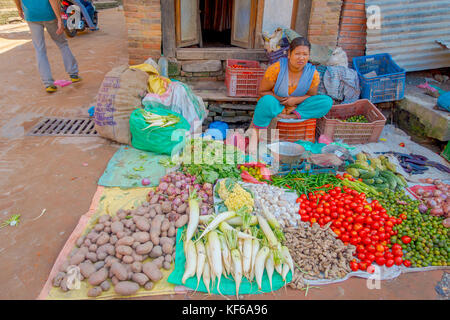
[[[353,57],[365,55],[366,21],[365,0],[344,0],[338,46],[345,50],[350,63]]]

